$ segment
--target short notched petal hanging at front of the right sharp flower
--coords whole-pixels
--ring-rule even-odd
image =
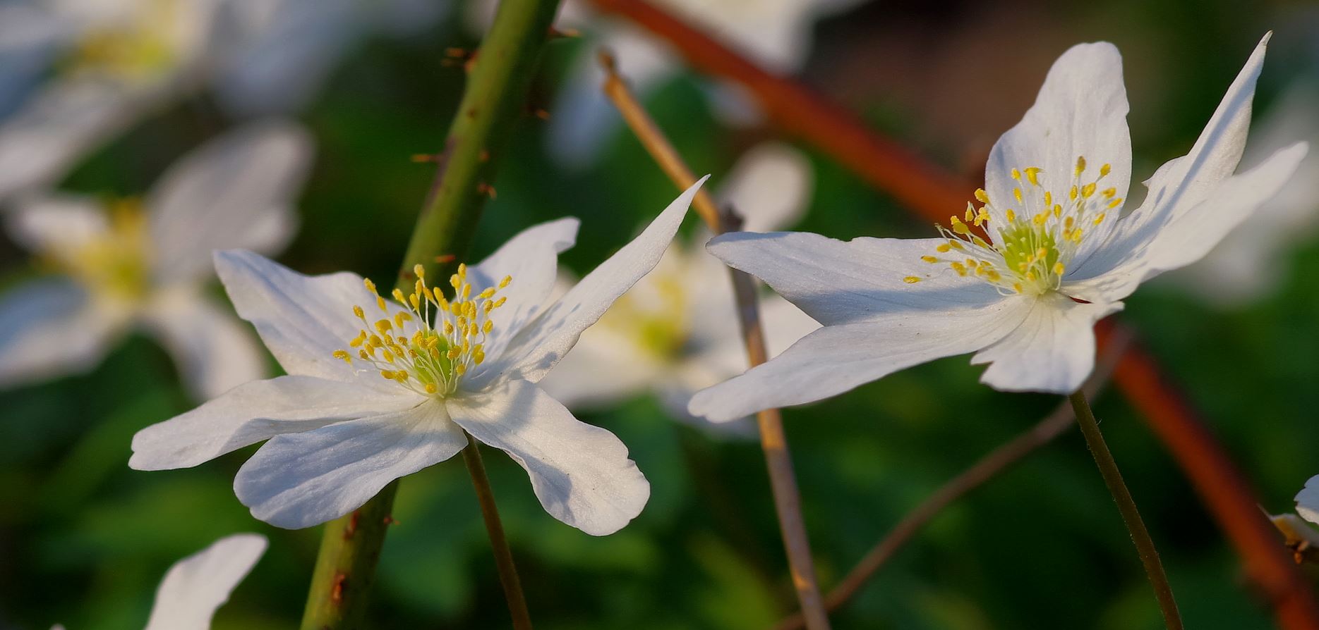
[[[1028,304],[1026,319],[971,357],[991,364],[980,382],[1002,391],[1076,391],[1095,368],[1095,322],[1122,303],[1082,304],[1057,293],[1010,299]]]

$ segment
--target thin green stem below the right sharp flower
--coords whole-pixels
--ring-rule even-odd
[[[1173,587],[1167,583],[1167,575],[1163,572],[1163,563],[1158,559],[1154,539],[1150,538],[1149,530],[1145,529],[1145,521],[1141,519],[1141,513],[1136,509],[1136,501],[1122,481],[1122,473],[1117,469],[1113,453],[1108,452],[1108,444],[1104,443],[1104,436],[1099,432],[1099,422],[1095,420],[1095,414],[1089,410],[1089,403],[1086,402],[1086,394],[1078,390],[1070,397],[1070,401],[1072,409],[1076,410],[1076,423],[1080,424],[1080,432],[1086,436],[1086,444],[1089,445],[1089,452],[1095,456],[1095,464],[1099,465],[1099,472],[1104,476],[1104,484],[1108,485],[1108,492],[1113,494],[1113,501],[1117,502],[1117,511],[1122,514],[1122,522],[1126,523],[1126,530],[1132,534],[1132,542],[1136,543],[1136,551],[1141,556],[1141,563],[1145,564],[1145,575],[1149,576],[1150,585],[1154,587],[1154,597],[1158,598],[1159,610],[1163,612],[1163,623],[1169,630],[1182,630],[1182,617],[1177,612]]]

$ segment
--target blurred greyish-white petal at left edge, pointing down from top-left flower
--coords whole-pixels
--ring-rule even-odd
[[[125,127],[141,95],[116,82],[55,80],[0,125],[0,198],[55,183]]]

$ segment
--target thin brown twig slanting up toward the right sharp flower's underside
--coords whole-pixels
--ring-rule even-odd
[[[1113,368],[1117,365],[1117,358],[1126,349],[1130,343],[1130,336],[1124,339],[1113,339],[1113,343],[1100,353],[1099,361],[1095,365],[1095,372],[1086,380],[1082,385],[1082,391],[1087,397],[1097,397],[1107,386],[1108,380],[1113,374]],[[1028,428],[1025,432],[1017,435],[1005,444],[995,448],[988,455],[977,460],[971,468],[967,468],[956,477],[952,477],[946,484],[939,486],[926,497],[921,505],[917,505],[911,511],[906,513],[889,530],[888,535],[880,539],[871,551],[865,552],[861,561],[856,563],[842,580],[839,580],[838,587],[830,590],[828,596],[824,597],[824,609],[830,613],[838,610],[844,604],[852,600],[861,590],[871,577],[880,571],[881,567],[889,559],[892,559],[898,550],[902,548],[911,538],[914,538],[930,521],[934,519],[944,507],[952,505],[952,502],[966,497],[971,490],[980,488],[989,480],[998,476],[998,473],[1012,468],[1014,464],[1025,459],[1028,455],[1035,452],[1045,444],[1054,442],[1055,438],[1066,432],[1072,427],[1072,420],[1076,419],[1076,414],[1072,410],[1071,403],[1063,402],[1053,413],[1039,420],[1035,426]],[[802,616],[794,613],[793,616],[785,618],[774,626],[774,630],[801,630]]]

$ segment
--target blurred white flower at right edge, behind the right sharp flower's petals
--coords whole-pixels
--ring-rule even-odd
[[[1319,142],[1319,83],[1301,79],[1256,124],[1241,163],[1262,163],[1297,140]],[[1306,156],[1295,177],[1252,219],[1229,233],[1204,260],[1169,279],[1221,307],[1244,306],[1268,295],[1287,277],[1291,246],[1315,233],[1319,224],[1319,152]]]

